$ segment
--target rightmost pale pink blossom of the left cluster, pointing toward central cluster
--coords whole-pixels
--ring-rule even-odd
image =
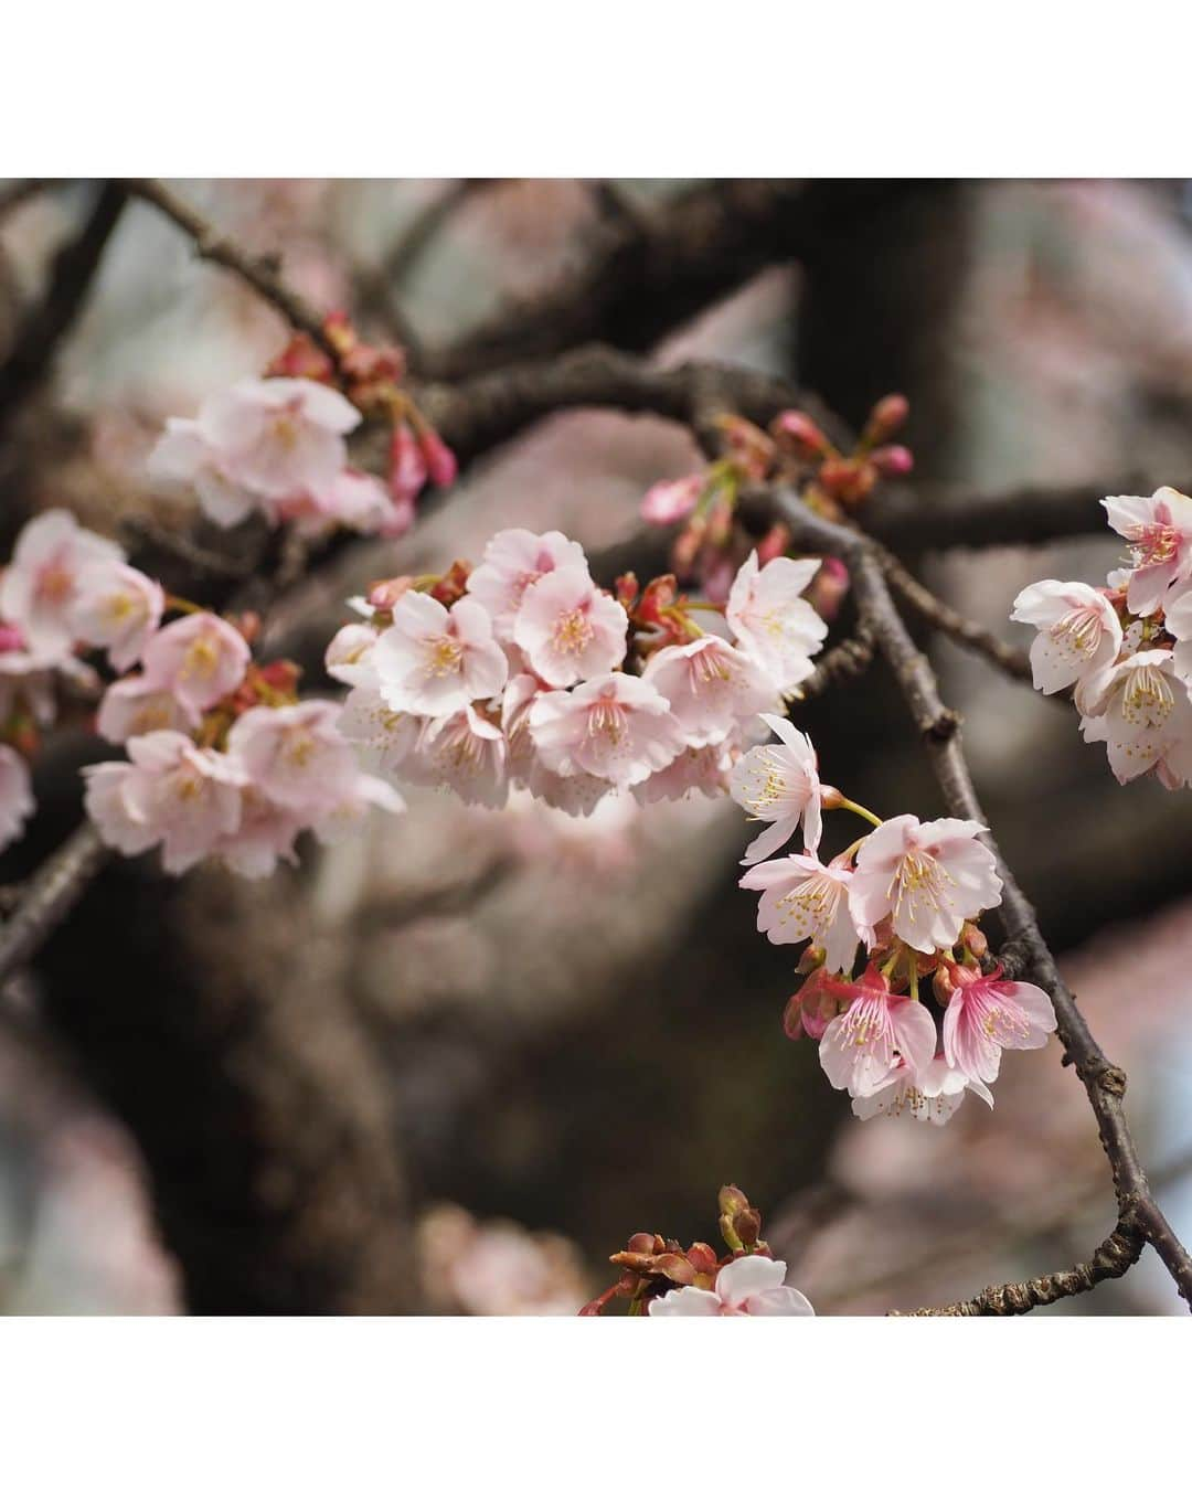
[[[228,730],[228,758],[270,802],[313,821],[358,773],[352,746],[337,729],[340,712],[341,705],[328,699],[246,709]]]

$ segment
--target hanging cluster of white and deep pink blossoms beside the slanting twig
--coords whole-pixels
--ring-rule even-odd
[[[1001,1052],[1039,1049],[1055,1030],[1050,998],[982,967],[977,918],[1001,900],[983,827],[966,818],[881,821],[820,781],[815,749],[767,717],[776,744],[749,749],[730,791],[769,827],[745,855],[741,884],[761,893],[757,927],[778,945],[806,943],[785,1030],[820,1043],[820,1064],[861,1118],[943,1123],[966,1091],[992,1106]],[[824,811],[846,809],[870,830],[827,863]],[[802,828],[803,852],[769,858]],[[863,971],[854,976],[858,954]],[[931,977],[942,1028],[921,1000]]]

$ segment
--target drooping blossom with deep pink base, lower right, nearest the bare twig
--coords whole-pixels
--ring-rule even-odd
[[[1042,1050],[1055,1030],[1055,1010],[1042,988],[974,968],[951,970],[952,997],[943,1012],[948,1064],[980,1082],[992,1082],[1003,1050]]]

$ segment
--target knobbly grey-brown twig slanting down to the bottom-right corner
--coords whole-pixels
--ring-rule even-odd
[[[834,554],[848,566],[858,609],[873,627],[878,647],[890,663],[907,711],[922,735],[948,811],[957,817],[976,818],[983,822],[985,814],[961,746],[960,717],[945,706],[936,673],[927,657],[915,647],[906,623],[894,605],[879,547],[864,535],[811,513],[790,492],[779,493],[775,507],[778,516],[788,523],[796,542]],[[1119,1214],[1119,1232],[1115,1234],[1118,1241],[1110,1249],[1110,1261],[1116,1265],[1125,1256],[1122,1238],[1137,1231],[1155,1247],[1182,1296],[1192,1307],[1192,1258],[1150,1193],[1122,1107],[1126,1089],[1125,1071],[1109,1061],[1094,1039],[1071,991],[1059,974],[1050,948],[1043,939],[1034,907],[1018,887],[992,836],[989,836],[989,848],[997,857],[998,875],[1003,879],[1000,909],[1003,925],[1007,934],[1025,951],[1036,977],[1050,994],[1059,1039],[1067,1058],[1085,1083],[1101,1146],[1110,1162]],[[1098,1253],[1100,1256],[1101,1253]],[[1094,1259],[1092,1264],[1086,1265],[1092,1269],[1088,1277],[1097,1272],[1095,1281],[1100,1281],[1100,1277],[1116,1275],[1104,1271],[1104,1258],[1100,1262]],[[1092,1283],[1088,1286],[1091,1287]],[[1037,1302],[1040,1301],[1042,1298]]]

